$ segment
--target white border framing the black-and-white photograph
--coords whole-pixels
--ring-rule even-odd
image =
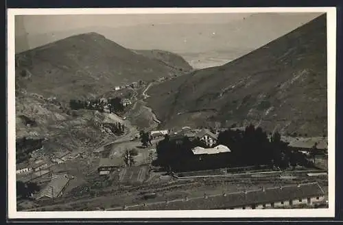
[[[328,103],[328,209],[244,209],[178,211],[16,211],[15,35],[16,15],[58,14],[209,14],[257,12],[323,12],[327,14],[327,103]],[[134,218],[230,218],[230,217],[334,217],[335,216],[335,79],[336,8],[52,8],[8,9],[8,218],[9,219],[134,219]]]

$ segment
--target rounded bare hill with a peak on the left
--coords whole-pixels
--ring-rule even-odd
[[[115,85],[183,73],[97,33],[80,34],[16,55],[16,87],[69,100]]]

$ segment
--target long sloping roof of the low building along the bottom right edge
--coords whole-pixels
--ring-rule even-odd
[[[294,200],[297,198],[309,198],[323,196],[324,191],[318,183],[307,183],[300,185],[289,185],[280,187],[266,188],[247,191],[239,191],[224,195],[190,198],[184,200],[171,200],[169,202],[153,202],[143,205],[128,207],[128,210],[196,210],[196,209],[230,209],[234,207],[244,207],[252,204],[263,204]]]

